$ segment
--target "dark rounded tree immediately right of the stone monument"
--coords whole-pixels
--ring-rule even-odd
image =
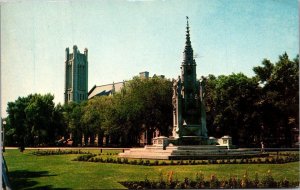
[[[257,80],[242,73],[218,78],[210,75],[206,86],[209,134],[216,137],[230,135],[233,143],[240,146],[249,146],[258,139]]]

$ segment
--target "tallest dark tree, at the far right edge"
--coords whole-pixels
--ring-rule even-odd
[[[262,64],[253,71],[262,84],[265,141],[269,146],[291,146],[291,129],[299,124],[299,55],[291,61],[284,53],[275,64],[268,60]]]

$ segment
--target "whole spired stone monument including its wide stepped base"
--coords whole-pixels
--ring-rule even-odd
[[[153,138],[153,145],[131,148],[119,157],[146,159],[206,159],[218,157],[260,156],[259,151],[237,149],[230,136],[220,139],[207,136],[205,113],[205,79],[197,80],[196,61],[190,40],[187,17],[186,42],[181,64],[181,76],[173,80],[172,136]]]

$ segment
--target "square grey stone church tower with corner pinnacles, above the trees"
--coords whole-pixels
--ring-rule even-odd
[[[65,103],[81,102],[88,99],[88,49],[80,53],[73,46],[70,53],[66,48],[65,59]]]

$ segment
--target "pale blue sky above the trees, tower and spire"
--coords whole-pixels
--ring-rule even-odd
[[[64,102],[65,49],[88,48],[88,86],[142,71],[177,78],[189,17],[197,76],[242,72],[299,52],[297,0],[1,2],[1,113],[31,93]]]

